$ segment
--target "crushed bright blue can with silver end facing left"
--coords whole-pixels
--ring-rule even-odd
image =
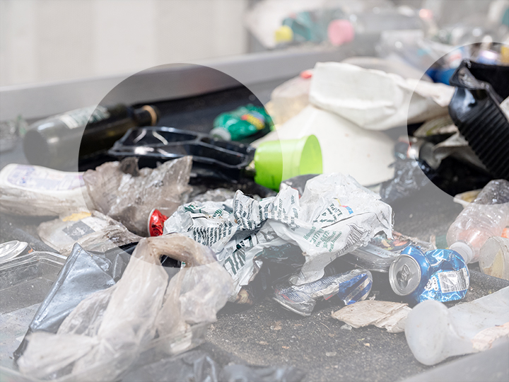
[[[428,250],[423,253],[409,246],[389,270],[394,293],[409,296],[414,302],[440,302],[463,299],[469,287],[469,271],[454,250]]]

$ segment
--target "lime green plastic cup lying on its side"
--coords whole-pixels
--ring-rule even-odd
[[[322,173],[322,149],[314,135],[286,141],[268,141],[254,153],[254,181],[279,190],[283,180]]]

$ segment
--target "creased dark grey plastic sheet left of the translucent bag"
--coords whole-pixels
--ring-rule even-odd
[[[31,332],[42,330],[56,333],[78,303],[96,291],[115,285],[122,277],[134,248],[136,243],[122,245],[105,253],[93,253],[75,244],[57,280],[37,309],[14,357],[21,357],[27,346],[26,336]]]

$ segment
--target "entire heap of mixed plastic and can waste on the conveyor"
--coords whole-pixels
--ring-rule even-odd
[[[218,312],[269,303],[296,322],[327,306],[341,329],[404,332],[424,365],[509,341],[507,46],[467,45],[467,28],[440,33],[423,9],[388,1],[377,13],[287,3],[247,14],[267,46],[376,35],[382,57],[318,62],[275,88],[267,109],[223,110],[210,134],[160,126],[153,105],[28,127],[33,164],[0,170],[2,374],[301,381],[298,367],[225,363],[208,348]],[[454,39],[465,41],[455,59]],[[76,129],[74,144],[81,132],[78,151],[59,129]],[[439,235],[401,213],[428,190],[457,202]],[[483,293],[479,277],[501,287]]]

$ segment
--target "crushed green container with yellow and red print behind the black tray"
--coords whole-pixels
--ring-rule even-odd
[[[210,134],[225,141],[238,141],[262,130],[269,132],[273,126],[265,108],[250,104],[218,115]]]

